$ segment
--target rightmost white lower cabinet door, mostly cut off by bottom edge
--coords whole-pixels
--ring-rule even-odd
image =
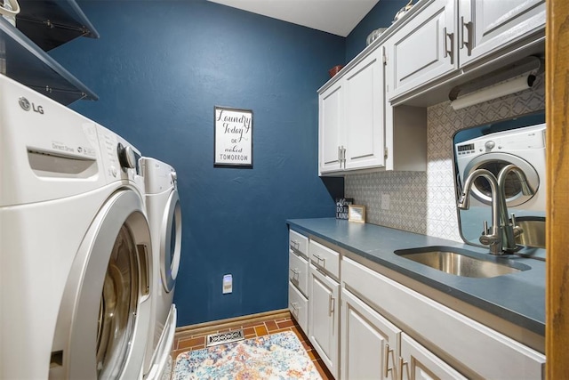
[[[465,379],[443,360],[415,342],[405,333],[401,334],[400,378],[404,380]]]

